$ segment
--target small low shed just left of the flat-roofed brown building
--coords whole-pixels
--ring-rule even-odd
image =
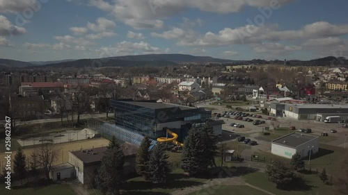
[[[63,180],[66,178],[74,178],[75,171],[74,166],[70,163],[58,164],[52,167],[52,171],[49,176],[52,180]]]

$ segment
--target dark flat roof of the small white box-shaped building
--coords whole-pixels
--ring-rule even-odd
[[[285,135],[283,137],[279,137],[278,139],[274,139],[272,141],[272,144],[288,146],[290,148],[295,149],[297,146],[300,146],[313,139],[319,139],[319,137],[315,135],[308,135],[306,133],[290,133],[289,135]]]

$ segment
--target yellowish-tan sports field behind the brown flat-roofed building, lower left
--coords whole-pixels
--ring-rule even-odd
[[[62,164],[69,161],[69,153],[68,151],[79,151],[81,149],[92,149],[102,146],[107,146],[109,144],[108,139],[104,138],[95,138],[95,139],[86,139],[76,142],[67,142],[62,144],[56,144],[57,147],[60,147],[62,149],[61,155],[58,155],[58,160],[56,160],[55,164]],[[24,154],[28,157],[32,152],[32,149],[24,149]],[[16,151],[13,151],[12,153],[12,160],[14,159],[16,155]],[[5,164],[5,153],[0,153],[0,166],[4,166]],[[2,169],[1,169],[2,170]]]

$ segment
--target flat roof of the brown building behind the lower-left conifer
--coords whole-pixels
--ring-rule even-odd
[[[121,147],[125,156],[134,155],[136,154],[136,151],[138,150],[138,147],[129,143],[121,144]],[[102,161],[102,158],[104,156],[104,152],[106,151],[106,149],[107,147],[104,146],[104,147],[95,148],[95,149],[86,149],[83,151],[72,151],[71,153],[77,158],[79,158],[79,160],[84,162],[84,164],[88,164],[88,163]]]

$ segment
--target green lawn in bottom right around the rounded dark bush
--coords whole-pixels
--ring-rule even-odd
[[[324,185],[322,181],[319,179],[319,176],[315,174],[312,174],[312,175],[301,174],[301,176],[303,177],[303,180],[305,181],[305,183],[301,183],[301,185],[298,185],[296,187],[297,189],[292,189],[292,191],[277,189],[274,183],[271,183],[269,182],[269,180],[267,180],[266,173],[260,173],[260,172],[249,173],[246,176],[243,176],[243,178],[246,180],[246,183],[249,183],[256,187],[260,187],[274,194],[282,194],[282,195],[332,194],[333,187],[330,185]]]

